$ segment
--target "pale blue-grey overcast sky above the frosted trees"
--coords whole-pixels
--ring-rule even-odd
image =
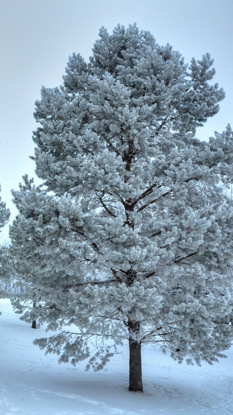
[[[197,130],[197,137],[208,139],[233,125],[232,21],[233,0],[0,0],[0,183],[11,220],[17,210],[10,190],[24,173],[34,176],[34,101],[42,85],[62,83],[70,54],[88,60],[102,25],[112,32],[117,23],[137,22],[186,62],[211,54],[214,82],[226,98],[218,115]]]

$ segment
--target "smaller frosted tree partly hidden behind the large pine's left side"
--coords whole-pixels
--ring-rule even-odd
[[[35,253],[38,244],[32,238],[30,221],[24,220],[26,217],[29,219],[31,214],[36,217],[34,212],[36,205],[33,203],[34,193],[31,192],[33,195],[31,198],[22,198],[23,195],[26,195],[27,190],[32,190],[33,179],[29,180],[27,174],[23,176],[23,179],[24,186],[19,183],[20,202],[17,198],[17,192],[12,191],[15,196],[14,203],[20,214],[13,221],[13,226],[10,226],[10,235],[14,243],[8,249],[8,256],[13,259],[10,266],[11,277],[20,295],[18,292],[12,291],[10,298],[15,311],[18,314],[24,312],[22,320],[32,322],[32,328],[36,329],[36,287],[37,280],[39,282],[39,273],[43,272],[44,266],[43,261]],[[39,192],[40,186],[37,190],[37,193]]]

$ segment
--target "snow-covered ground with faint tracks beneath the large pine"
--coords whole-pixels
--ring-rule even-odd
[[[44,328],[31,329],[0,300],[0,414],[81,415],[233,413],[233,348],[209,366],[179,365],[160,350],[144,347],[144,393],[128,391],[128,348],[101,372],[57,363],[32,344]]]

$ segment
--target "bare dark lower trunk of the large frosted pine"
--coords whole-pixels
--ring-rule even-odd
[[[130,322],[133,331],[139,331],[139,323]],[[143,392],[141,374],[141,342],[129,337],[129,391]]]

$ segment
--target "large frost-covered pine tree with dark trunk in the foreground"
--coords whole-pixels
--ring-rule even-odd
[[[188,364],[231,345],[233,133],[195,137],[224,98],[209,54],[187,68],[135,24],[102,27],[92,50],[36,101],[46,190],[13,192],[10,231],[37,300],[22,318],[60,327],[36,344],[95,370],[127,339],[129,390],[142,391],[141,344]]]

